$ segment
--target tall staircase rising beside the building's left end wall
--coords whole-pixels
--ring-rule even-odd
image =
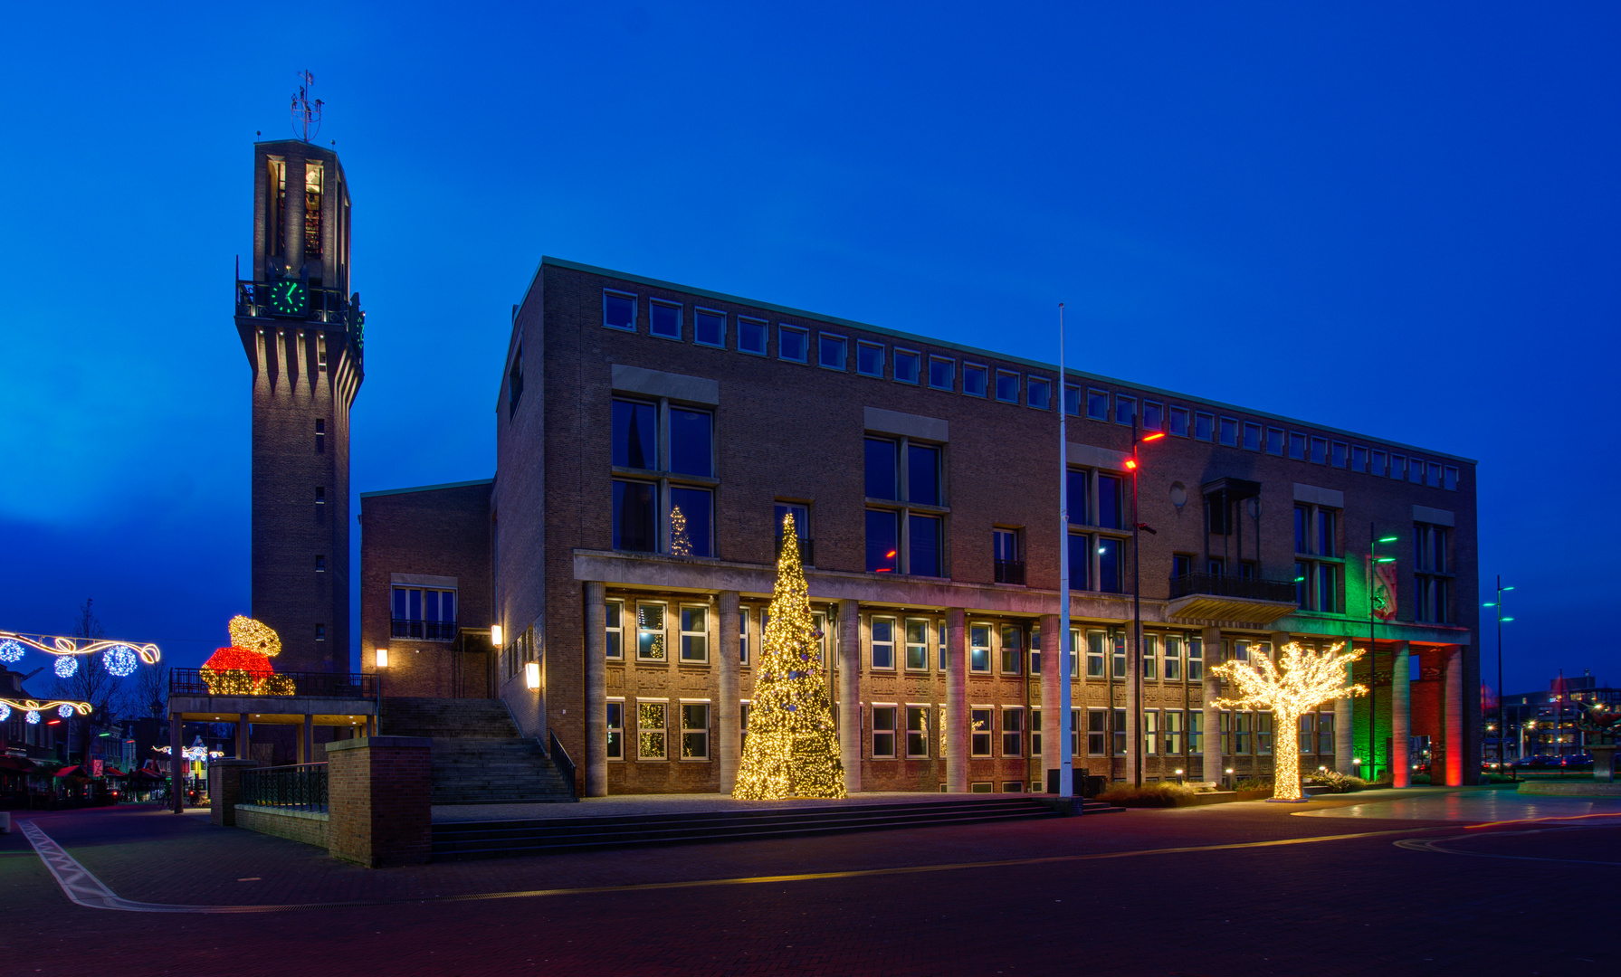
[[[433,804],[572,802],[540,744],[519,736],[499,698],[384,698],[383,736],[433,739]]]

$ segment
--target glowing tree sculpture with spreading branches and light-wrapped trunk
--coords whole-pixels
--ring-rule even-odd
[[[1345,684],[1345,669],[1362,658],[1362,651],[1341,655],[1345,645],[1328,651],[1305,651],[1290,642],[1282,646],[1277,663],[1266,655],[1250,661],[1224,661],[1217,676],[1238,687],[1238,698],[1217,698],[1221,710],[1271,710],[1277,731],[1277,753],[1272,760],[1272,797],[1300,800],[1300,715],[1324,702],[1347,695],[1367,695],[1362,685]]]

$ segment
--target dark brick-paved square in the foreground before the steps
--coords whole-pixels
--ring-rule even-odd
[[[579,805],[569,805],[579,807]],[[1297,817],[1307,815],[1307,817]],[[152,807],[18,812],[0,975],[1613,974],[1621,802],[1381,791],[368,870]],[[1537,820],[1527,820],[1537,818]]]

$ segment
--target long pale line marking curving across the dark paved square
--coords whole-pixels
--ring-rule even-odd
[[[1123,852],[1093,852],[1084,855],[1042,855],[1034,859],[1002,859],[995,862],[947,862],[939,865],[898,865],[893,868],[851,868],[845,872],[799,872],[793,875],[749,875],[741,878],[699,878],[689,881],[644,881],[632,885],[608,885],[588,888],[559,890],[517,890],[511,893],[473,893],[467,896],[431,896],[426,899],[355,899],[345,902],[297,902],[287,906],[175,906],[167,902],[138,902],[125,899],[109,890],[99,878],[79,865],[73,855],[62,851],[34,821],[21,821],[23,833],[29,844],[39,852],[45,868],[57,878],[57,885],[68,899],[89,909],[113,909],[120,912],[293,912],[298,909],[339,909],[349,906],[399,906],[426,902],[480,902],[486,899],[535,899],[545,896],[590,896],[598,893],[644,893],[653,890],[691,890],[731,885],[775,885],[785,881],[822,881],[832,878],[870,878],[877,875],[921,875],[927,872],[961,872],[966,868],[1005,868],[1016,865],[1059,865],[1065,862],[1096,862],[1104,859],[1133,859],[1141,855],[1177,855],[1193,852],[1222,852],[1253,847],[1282,847],[1290,844],[1316,844],[1323,841],[1352,841],[1358,838],[1383,838],[1389,834],[1414,834],[1420,831],[1441,831],[1452,828],[1439,825],[1431,828],[1394,828],[1388,831],[1357,831],[1352,834],[1318,834],[1313,838],[1281,838],[1276,841],[1238,841],[1229,844],[1196,844],[1183,847],[1148,847]]]

